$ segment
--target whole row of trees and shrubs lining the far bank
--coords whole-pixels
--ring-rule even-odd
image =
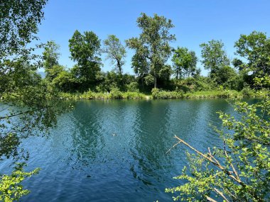
[[[66,69],[59,64],[59,46],[53,41],[45,45],[43,67],[45,81],[63,92],[151,92],[153,88],[166,91],[203,91],[213,89],[254,88],[254,77],[270,73],[270,39],[265,33],[253,31],[240,35],[234,43],[237,58],[229,60],[222,40],[202,43],[201,57],[207,77],[200,75],[198,57],[187,47],[174,49],[170,43],[175,35],[171,20],[163,16],[146,16],[137,19],[141,33],[138,37],[121,43],[116,35],[109,35],[102,42],[92,31],[80,33],[75,30],[69,40],[74,67]],[[135,51],[131,59],[134,75],[124,74],[126,48]],[[112,64],[112,71],[102,72],[101,54]],[[168,60],[171,58],[171,64]]]

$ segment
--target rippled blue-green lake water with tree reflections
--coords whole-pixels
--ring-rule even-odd
[[[21,201],[173,201],[165,189],[187,164],[183,145],[166,154],[173,136],[202,151],[220,145],[217,111],[235,113],[224,99],[79,101],[48,138],[23,140],[27,170],[41,172]]]

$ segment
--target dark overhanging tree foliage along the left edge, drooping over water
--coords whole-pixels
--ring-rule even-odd
[[[18,155],[17,147],[21,138],[33,135],[34,128],[43,130],[52,126],[56,120],[57,111],[54,113],[56,105],[53,102],[58,100],[57,94],[54,89],[48,88],[36,73],[38,67],[42,67],[41,57],[33,54],[35,48],[26,48],[25,44],[35,38],[33,34],[43,18],[42,9],[45,2],[36,1],[34,5],[32,1],[23,1],[22,4],[5,1],[1,5],[1,14],[10,12],[5,13],[10,16],[0,18],[1,36],[9,35],[13,43],[6,40],[0,42],[1,47],[9,46],[8,52],[0,50],[0,140],[3,146],[0,157]],[[16,24],[11,25],[15,22]],[[28,26],[25,27],[21,23]],[[9,33],[5,29],[6,26],[11,26]],[[13,110],[10,106],[13,106]]]

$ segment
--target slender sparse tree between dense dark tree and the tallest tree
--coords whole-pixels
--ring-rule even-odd
[[[126,50],[116,35],[109,35],[108,38],[104,40],[103,52],[107,53],[107,59],[111,60],[112,64],[116,63],[117,70],[121,75],[123,72],[122,66],[124,65],[124,57],[126,57]]]

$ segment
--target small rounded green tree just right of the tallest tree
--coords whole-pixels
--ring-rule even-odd
[[[198,58],[194,51],[188,51],[186,47],[178,47],[173,54],[173,70],[178,77],[190,77],[196,74]]]

